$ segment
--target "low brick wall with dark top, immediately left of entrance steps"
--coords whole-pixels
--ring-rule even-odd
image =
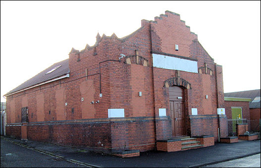
[[[157,151],[175,152],[181,150],[181,139],[157,140]]]

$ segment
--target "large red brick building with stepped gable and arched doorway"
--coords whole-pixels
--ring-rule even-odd
[[[177,136],[227,136],[222,66],[180,15],[123,38],[97,35],[5,94],[6,135],[93,150],[156,149]]]

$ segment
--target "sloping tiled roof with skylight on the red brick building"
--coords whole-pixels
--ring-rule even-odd
[[[52,80],[54,78],[60,77],[62,75],[66,75],[69,72],[70,72],[70,70],[69,70],[69,59],[65,59],[63,61],[60,61],[60,62],[53,64],[49,68],[45,69],[44,71],[40,72],[39,74],[37,74],[33,78],[27,80],[23,84],[20,84],[19,86],[15,87],[14,89],[12,89],[11,91],[9,91],[8,93],[6,93],[4,95],[14,93],[16,91],[34,86],[36,84],[41,84],[41,83],[47,82],[47,81]]]

